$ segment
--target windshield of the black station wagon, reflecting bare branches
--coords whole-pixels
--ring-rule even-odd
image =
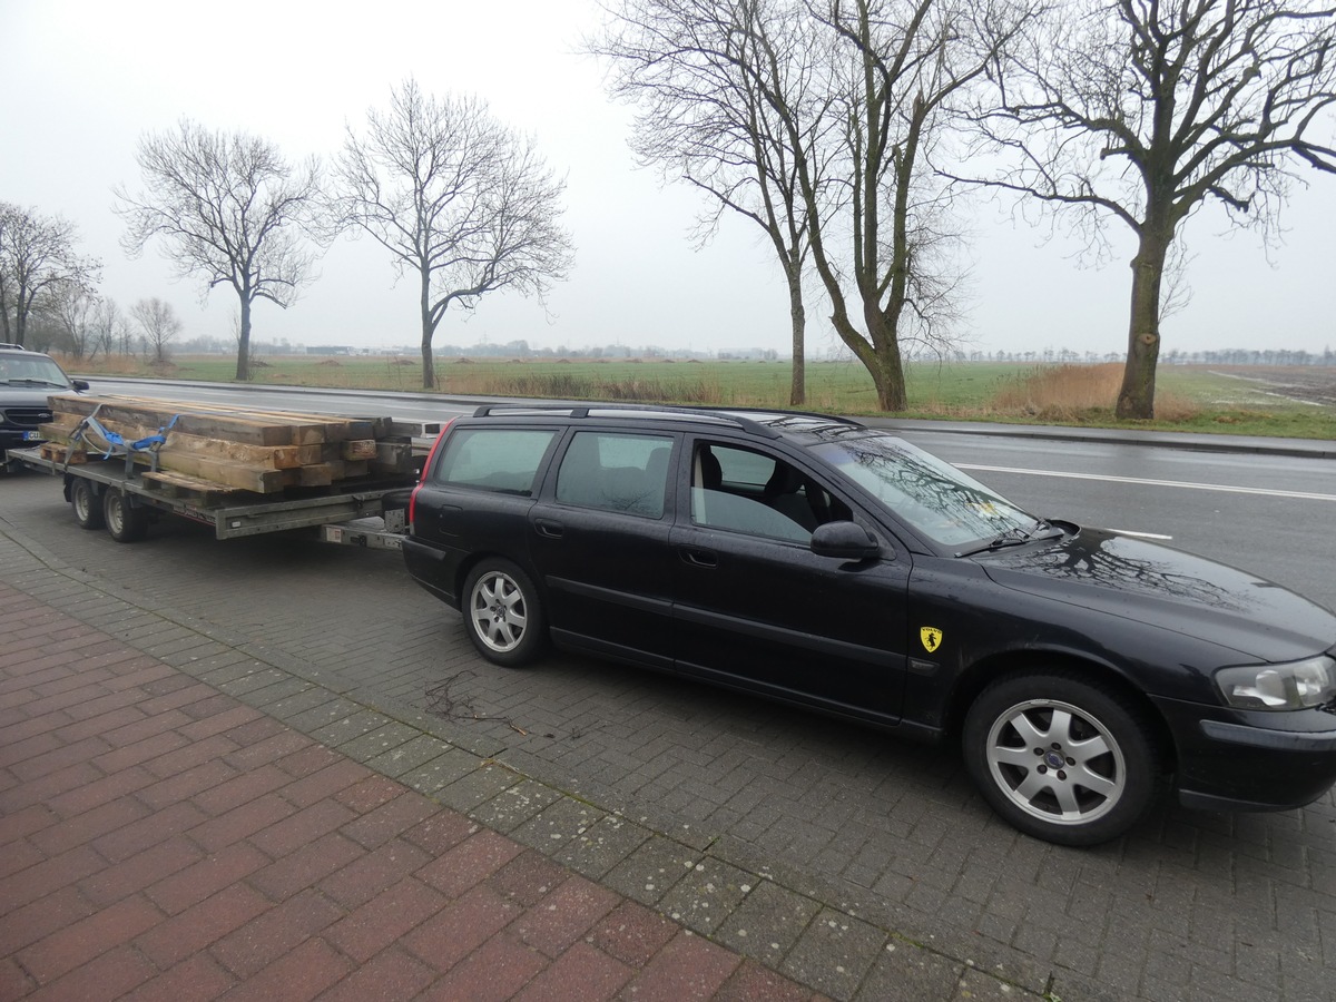
[[[950,464],[894,436],[851,436],[814,452],[943,546],[1027,533],[1039,522]]]

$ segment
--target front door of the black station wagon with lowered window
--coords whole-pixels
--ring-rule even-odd
[[[908,554],[778,450],[704,437],[688,448],[687,497],[672,530],[679,669],[896,720]],[[812,524],[846,520],[879,536],[879,557],[811,552]]]

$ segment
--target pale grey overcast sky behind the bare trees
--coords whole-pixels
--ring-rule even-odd
[[[597,23],[592,0],[0,0],[0,199],[75,222],[83,248],[104,261],[102,291],[123,307],[172,302],[186,334],[230,338],[235,297],[172,282],[151,246],[127,261],[111,188],[140,186],[134,154],[146,131],[190,116],[208,128],[247,130],[289,158],[329,155],[343,128],[383,107],[413,75],[436,94],[472,91],[502,122],[536,135],[568,180],[565,224],[576,267],[548,313],[513,295],[486,298],[474,315],[448,314],[437,343],[525,339],[534,347],[621,342],[635,346],[788,349],[787,298],[778,267],[751,224],[729,220],[695,251],[687,228],[701,207],[681,186],[660,188],[636,170],[625,138],[631,111],[612,104],[601,67],[576,55]],[[1328,124],[1329,128],[1333,126]],[[1165,350],[1336,347],[1336,178],[1311,174],[1283,218],[1285,242],[1268,254],[1252,231],[1229,232],[1220,212],[1189,223],[1190,305],[1164,325]],[[965,347],[1077,351],[1125,349],[1130,247],[1081,267],[1077,247],[1042,243],[978,207]],[[808,354],[834,346],[808,307]],[[259,341],[411,345],[415,295],[397,286],[387,254],[342,239],[321,277],[289,310],[259,303]]]

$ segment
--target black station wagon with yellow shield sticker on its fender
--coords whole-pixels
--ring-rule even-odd
[[[1094,844],[1166,782],[1287,810],[1336,780],[1336,616],[1031,516],[840,418],[482,407],[410,508],[413,577],[484,657],[561,648],[958,740],[1021,831]]]

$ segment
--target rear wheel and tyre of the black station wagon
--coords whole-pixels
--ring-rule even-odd
[[[516,668],[542,649],[546,623],[538,589],[509,560],[482,560],[469,572],[462,612],[469,640],[494,664]]]

